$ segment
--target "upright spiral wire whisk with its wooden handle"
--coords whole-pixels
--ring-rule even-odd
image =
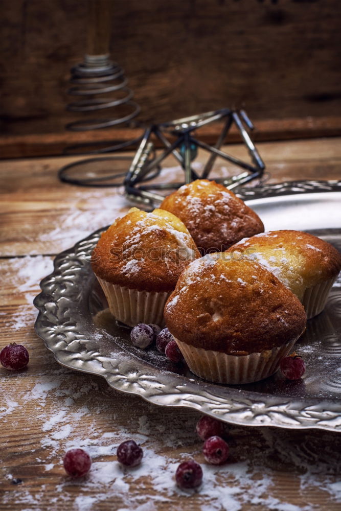
[[[87,48],[84,61],[71,69],[70,88],[67,93],[72,101],[66,109],[78,114],[78,119],[69,122],[66,129],[76,132],[105,130],[120,125],[131,126],[139,114],[140,106],[132,100],[133,92],[128,87],[124,69],[110,60],[109,48],[113,19],[111,0],[87,0]],[[135,122],[134,122],[135,123]],[[122,130],[123,131],[123,130]],[[137,146],[143,132],[132,140],[92,140],[66,147],[64,154],[103,155]],[[81,159],[62,167],[59,178],[70,184],[81,186],[120,186],[127,168],[127,156],[98,156]],[[115,160],[119,169],[111,165]]]

